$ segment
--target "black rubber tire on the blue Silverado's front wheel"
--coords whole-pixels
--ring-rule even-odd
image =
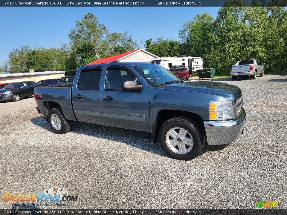
[[[169,130],[172,130],[173,128],[178,128],[178,127],[186,130],[189,133],[187,134],[187,137],[191,136],[193,139],[193,147],[190,149],[189,152],[184,153],[184,154],[179,154],[179,153],[176,153],[175,151],[172,151],[172,149],[170,149],[169,146],[167,145],[167,141],[166,141],[166,137],[169,138],[169,136],[167,136],[167,132]],[[176,141],[178,141],[178,139]],[[167,120],[161,126],[161,129],[159,131],[159,140],[161,142],[162,148],[164,149],[165,153],[167,153],[167,155],[171,156],[172,158],[179,159],[179,160],[194,159],[197,156],[199,156],[203,148],[203,135],[202,135],[202,131],[198,123],[194,121],[193,119],[190,119],[185,116],[177,116],[177,117]]]

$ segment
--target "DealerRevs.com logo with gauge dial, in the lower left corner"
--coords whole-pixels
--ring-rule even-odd
[[[4,201],[12,202],[12,206],[70,206],[77,200],[78,196],[71,195],[62,187],[47,188],[38,194],[4,194]]]

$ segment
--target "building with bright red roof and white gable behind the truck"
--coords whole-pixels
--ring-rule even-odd
[[[87,65],[110,62],[150,62],[151,60],[154,60],[156,58],[159,57],[152,53],[149,53],[144,49],[137,49],[119,55],[96,60],[91,63],[88,63]]]

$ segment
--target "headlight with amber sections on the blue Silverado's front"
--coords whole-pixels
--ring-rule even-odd
[[[233,102],[209,102],[209,119],[226,120],[233,118]]]

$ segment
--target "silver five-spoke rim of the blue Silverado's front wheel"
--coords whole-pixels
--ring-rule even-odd
[[[177,154],[189,153],[193,148],[193,138],[184,128],[172,128],[166,136],[165,141],[168,148]]]

